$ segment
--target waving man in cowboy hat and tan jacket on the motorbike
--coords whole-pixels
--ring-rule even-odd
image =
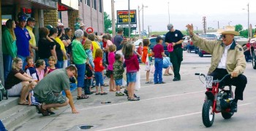
[[[222,79],[226,74],[231,75],[225,80],[225,84],[236,86],[235,98],[231,103],[231,111],[236,112],[237,101],[243,100],[243,92],[247,84],[246,76],[243,75],[246,68],[244,51],[234,40],[234,36],[238,36],[239,33],[235,31],[235,27],[226,26],[225,29],[217,31],[222,34],[222,41],[209,41],[193,33],[192,24],[186,27],[193,44],[212,55],[208,75],[214,76],[214,79]]]

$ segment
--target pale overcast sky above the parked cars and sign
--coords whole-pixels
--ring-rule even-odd
[[[223,28],[230,25],[243,25],[248,27],[248,6],[249,3],[249,23],[252,28],[256,28],[256,1],[255,0],[129,0],[130,9],[140,9],[144,5],[144,29],[151,31],[167,31],[167,24],[173,24],[175,29],[184,31],[186,25],[192,23],[194,30],[203,29],[203,17],[206,17],[207,28]],[[168,4],[169,2],[169,4]],[[103,1],[104,12],[110,15],[111,20],[111,0]],[[115,0],[116,10],[128,10],[128,0]],[[138,27],[138,20],[137,20]],[[142,10],[140,10],[140,28],[142,31]]]

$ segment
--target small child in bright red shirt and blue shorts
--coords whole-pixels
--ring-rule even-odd
[[[102,57],[103,57],[103,52],[102,49],[98,48],[96,49],[95,52],[95,59],[94,59],[94,70],[95,70],[95,79],[96,79],[96,94],[95,95],[106,95],[108,93],[103,91],[103,76],[102,76],[102,71],[104,70],[104,66],[102,63]],[[101,92],[99,93],[99,86]]]

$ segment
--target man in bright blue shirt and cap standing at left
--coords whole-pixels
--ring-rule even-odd
[[[14,29],[17,44],[17,57],[23,61],[23,70],[26,65],[26,57],[29,56],[29,40],[31,39],[29,31],[25,28],[26,17],[21,15],[18,17],[18,26]]]

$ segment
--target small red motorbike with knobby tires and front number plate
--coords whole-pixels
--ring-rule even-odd
[[[228,89],[225,89],[224,85],[219,85],[219,83],[225,82],[225,79],[230,77],[230,74],[225,75],[221,80],[213,80],[213,76],[206,76],[200,73],[196,73],[195,75],[199,76],[201,82],[200,76],[204,76],[206,79],[204,83],[206,87],[206,98],[202,109],[203,124],[206,127],[211,127],[214,124],[215,113],[221,113],[224,119],[230,119],[234,114],[230,108],[233,102],[232,86],[228,85]]]

